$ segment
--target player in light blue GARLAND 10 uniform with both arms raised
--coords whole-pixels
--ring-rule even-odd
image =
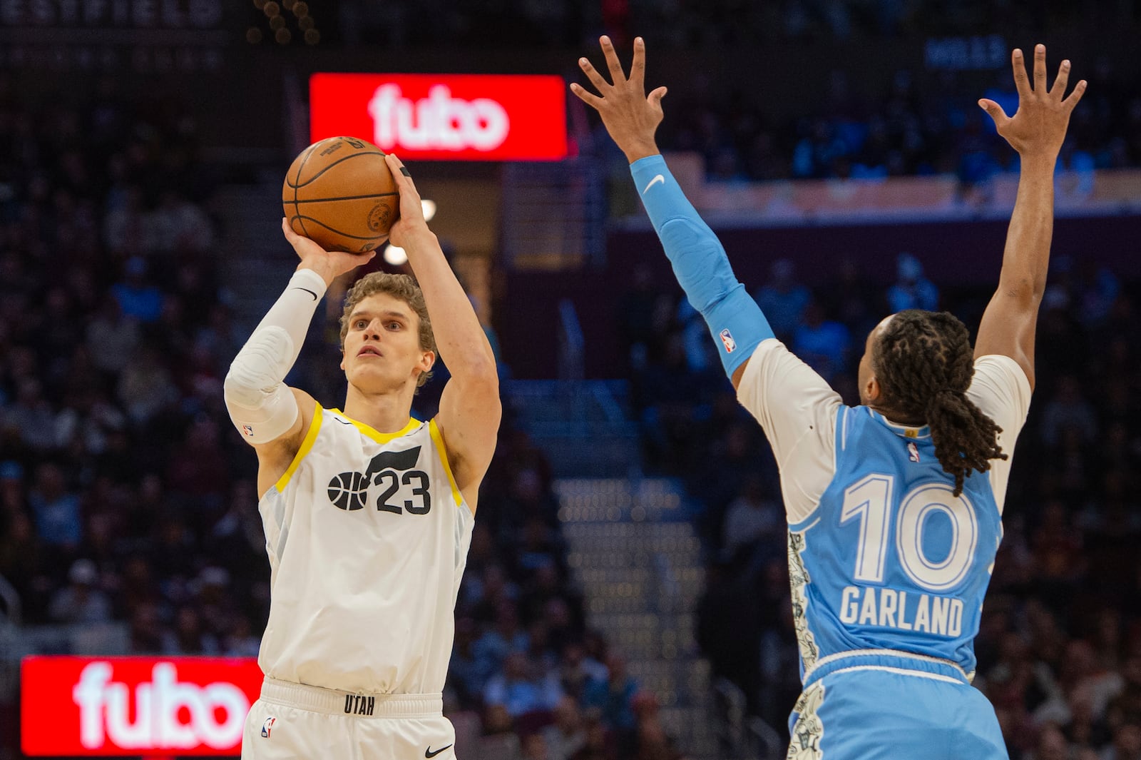
[[[1053,171],[1069,115],[1069,62],[1033,86],[1014,50],[1013,118],[980,100],[1018,151],[1021,177],[998,289],[974,347],[947,313],[900,312],[867,337],[859,406],[776,340],[725,250],[654,142],[661,87],[646,95],[645,43],[626,76],[580,65],[679,283],[710,328],[741,403],[780,467],[803,692],[790,719],[795,760],[1006,758],[994,709],[970,684],[982,598],[1002,539],[1011,453],[1034,387],[1034,333],[1053,226]]]

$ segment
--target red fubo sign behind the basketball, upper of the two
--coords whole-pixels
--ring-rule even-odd
[[[351,135],[402,159],[558,161],[567,155],[561,76],[314,74],[314,143]]]

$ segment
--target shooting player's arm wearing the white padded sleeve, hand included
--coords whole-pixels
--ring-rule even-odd
[[[325,251],[290,229],[285,219],[282,231],[301,262],[234,357],[222,386],[234,427],[258,452],[259,495],[289,469],[313,420],[316,402],[284,380],[301,351],[317,301],[337,276],[375,254]]]

